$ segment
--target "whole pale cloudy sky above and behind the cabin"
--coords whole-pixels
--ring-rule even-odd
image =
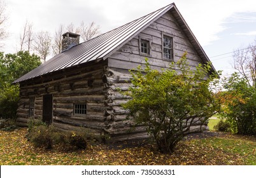
[[[3,0],[1,0],[3,1]],[[256,39],[255,0],[4,0],[9,32],[5,53],[17,52],[26,20],[35,32],[53,34],[62,25],[96,22],[101,32],[175,3],[217,71],[232,69],[232,51]],[[225,54],[225,55],[224,55]]]

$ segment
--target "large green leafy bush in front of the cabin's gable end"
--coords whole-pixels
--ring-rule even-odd
[[[207,78],[209,73],[210,64],[199,64],[192,71],[186,53],[160,72],[150,68],[147,58],[144,69],[138,66],[131,72],[132,86],[124,94],[132,99],[123,107],[137,124],[147,126],[162,153],[172,153],[192,125],[203,125],[220,109],[209,90],[217,74]]]

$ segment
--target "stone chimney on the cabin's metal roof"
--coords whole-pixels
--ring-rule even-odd
[[[75,34],[72,32],[66,32],[62,34],[62,48],[61,52],[64,52],[66,50],[69,50],[71,47],[75,46],[76,44],[79,44],[79,38],[80,34]]]

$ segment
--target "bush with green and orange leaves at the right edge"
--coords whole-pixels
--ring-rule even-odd
[[[216,96],[222,103],[221,117],[231,123],[232,132],[256,135],[256,88],[238,73],[222,80],[224,92]]]

